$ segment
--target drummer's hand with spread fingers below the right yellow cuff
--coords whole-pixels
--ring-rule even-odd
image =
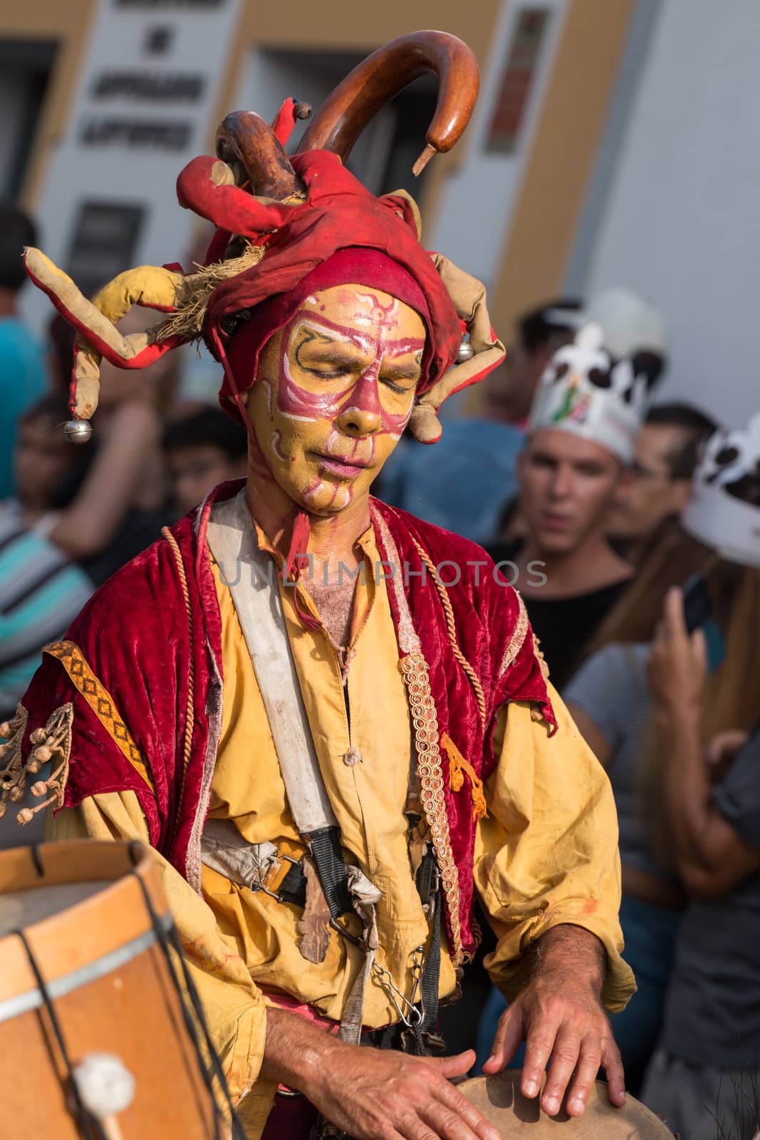
[[[559,1112],[569,1083],[567,1114],[580,1116],[600,1065],[610,1100],[623,1105],[623,1067],[600,1001],[604,964],[602,943],[581,927],[555,927],[539,938],[531,979],[502,1013],[483,1072],[499,1073],[525,1041],[523,1096],[538,1096],[551,1058],[541,1097],[549,1116]]]

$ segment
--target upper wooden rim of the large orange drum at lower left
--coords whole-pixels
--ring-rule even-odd
[[[117,969],[156,943],[146,893],[161,925],[171,925],[158,868],[138,842],[73,839],[0,853],[0,895],[90,881],[103,881],[104,889],[23,928],[52,997]],[[39,1004],[26,948],[17,934],[7,934],[0,938],[0,1023]]]

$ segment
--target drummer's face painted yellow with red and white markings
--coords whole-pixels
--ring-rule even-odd
[[[367,495],[411,414],[424,348],[419,315],[381,290],[308,296],[264,347],[248,392],[255,473],[312,514]]]

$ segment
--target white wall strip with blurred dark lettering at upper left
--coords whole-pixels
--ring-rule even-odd
[[[46,172],[35,210],[44,252],[57,264],[65,267],[83,201],[145,210],[133,264],[187,259],[197,219],[178,205],[177,176],[190,158],[209,149],[210,116],[222,79],[220,60],[229,56],[242,2],[215,0],[205,6],[198,3],[191,11],[180,7],[156,15],[149,5],[121,6],[117,0],[99,0],[66,132]],[[146,55],[145,38],[157,26],[169,30],[171,41],[165,54],[154,57]],[[161,76],[196,74],[203,76],[204,89],[191,104],[124,95],[96,96],[98,76],[122,72]],[[123,141],[85,145],[83,124],[109,119],[188,123],[190,132],[180,149],[171,150]],[[49,301],[38,290],[25,290],[23,308],[38,329],[51,314]]]

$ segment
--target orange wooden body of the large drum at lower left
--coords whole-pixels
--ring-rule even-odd
[[[68,1059],[75,1066],[89,1053],[113,1053],[133,1075],[132,1102],[117,1117],[123,1140],[206,1140],[211,1096],[146,904],[142,887],[166,925],[161,876],[147,848],[75,840],[0,854],[0,891],[96,880],[104,889],[24,925]],[[15,934],[0,938],[0,1056],[3,1117],[14,1135],[77,1140],[66,1066]]]

